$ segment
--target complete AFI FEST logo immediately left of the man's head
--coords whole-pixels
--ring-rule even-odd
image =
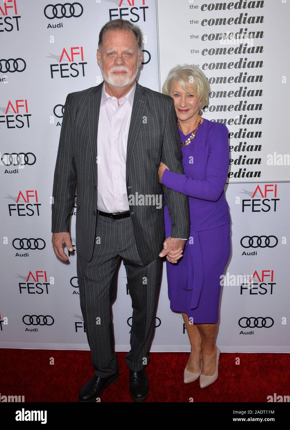
[[[64,60],[65,62],[60,64]],[[85,61],[83,61],[83,46],[73,46],[69,49],[62,49],[59,63],[50,64],[51,79],[57,76],[61,78],[76,78],[81,73],[85,76]]]

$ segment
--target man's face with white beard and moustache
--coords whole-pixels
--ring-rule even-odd
[[[133,31],[106,31],[102,49],[97,50],[97,60],[104,80],[110,85],[130,85],[142,63],[142,52],[138,55],[138,44]]]

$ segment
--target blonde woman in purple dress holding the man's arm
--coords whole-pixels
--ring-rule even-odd
[[[191,230],[182,251],[167,254],[170,308],[182,312],[191,344],[184,382],[200,378],[201,388],[218,377],[221,276],[231,253],[230,214],[224,187],[229,166],[228,129],[201,117],[210,85],[204,73],[191,65],[170,70],[162,92],[175,102],[184,175],[160,163],[159,181],[186,194]],[[165,237],[171,221],[164,206]],[[164,245],[164,249],[166,249]]]

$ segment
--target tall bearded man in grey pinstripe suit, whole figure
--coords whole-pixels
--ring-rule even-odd
[[[130,21],[107,22],[99,34],[104,81],[68,94],[53,182],[52,244],[62,260],[72,250],[69,221],[77,187],[76,248],[80,307],[95,369],[79,402],[93,402],[119,378],[111,301],[120,258],[133,315],[130,394],[144,401],[164,246],[164,211],[172,221],[163,254],[177,262],[189,237],[188,197],[158,181],[160,161],[184,174],[172,98],[141,86],[142,33]],[[143,200],[142,200],[143,199]]]

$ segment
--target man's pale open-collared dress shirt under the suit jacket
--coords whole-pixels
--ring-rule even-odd
[[[135,85],[119,100],[105,91],[99,113],[97,138],[98,209],[102,212],[128,211],[126,153]],[[184,239],[186,240],[186,239]]]

